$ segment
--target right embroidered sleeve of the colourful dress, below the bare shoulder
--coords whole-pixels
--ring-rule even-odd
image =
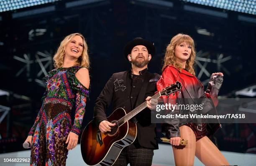
[[[79,82],[79,80],[75,75],[74,75],[72,84],[73,84],[73,89],[76,92],[76,102],[75,102],[74,124],[70,131],[79,135],[81,131],[82,120],[84,118],[86,100],[87,98],[89,98],[89,90],[86,87],[84,87],[82,83]]]

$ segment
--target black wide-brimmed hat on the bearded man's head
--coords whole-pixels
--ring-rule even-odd
[[[156,53],[156,48],[155,48],[153,43],[151,43],[150,41],[145,40],[145,39],[143,39],[141,37],[136,37],[133,40],[131,40],[130,42],[128,42],[125,45],[125,47],[123,48],[123,55],[124,55],[125,59],[128,60],[127,55],[131,54],[131,50],[136,45],[143,45],[143,46],[145,46],[147,48],[147,50],[148,50],[148,54],[150,54],[152,57]]]

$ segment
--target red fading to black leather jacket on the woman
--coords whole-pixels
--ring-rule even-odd
[[[190,74],[186,70],[182,69],[181,71],[174,67],[173,65],[166,66],[164,72],[162,73],[159,81],[156,83],[156,87],[158,91],[161,91],[165,87],[173,84],[174,82],[179,81],[182,84],[182,88],[180,92],[175,92],[175,94],[170,94],[169,96],[163,96],[162,98],[192,98],[192,99],[202,99],[202,98],[211,98],[211,102],[207,102],[209,107],[212,107],[217,114],[215,107],[218,104],[218,92],[223,82],[223,77],[221,75],[215,75],[210,77],[210,82],[208,83],[206,91],[204,91],[204,87],[202,83],[195,77]],[[207,99],[208,100],[208,99]],[[213,103],[212,103],[213,102]],[[214,106],[213,106],[214,104]],[[174,123],[164,124],[164,130],[166,133],[166,137],[180,137],[179,127],[182,126],[179,120],[176,119]],[[209,123],[207,124],[207,136],[212,136],[215,131],[220,127],[220,123]]]

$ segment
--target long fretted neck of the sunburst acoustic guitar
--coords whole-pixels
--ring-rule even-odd
[[[158,99],[159,97],[161,97],[160,92],[156,93],[154,96],[151,97],[151,99]],[[135,115],[137,115],[138,113],[140,113],[143,109],[145,109],[147,107],[147,102],[143,102],[142,104],[140,104],[138,107],[136,107],[135,109],[133,109],[131,112],[129,112],[128,114],[126,114],[125,116],[123,116],[123,118],[118,120],[118,124],[120,126],[120,124],[123,124],[125,122],[127,122],[128,120],[132,119]]]

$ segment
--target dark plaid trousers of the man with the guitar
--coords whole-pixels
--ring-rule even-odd
[[[153,149],[136,148],[134,144],[126,146],[120,153],[113,166],[151,166],[154,155]]]

